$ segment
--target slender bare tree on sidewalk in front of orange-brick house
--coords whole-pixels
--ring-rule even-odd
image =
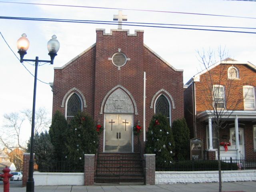
[[[208,52],[199,52],[199,61],[202,64],[203,72],[200,75],[200,82],[202,84],[202,99],[203,107],[212,117],[212,126],[217,130],[217,142],[218,142],[218,172],[219,172],[219,192],[222,191],[222,178],[221,178],[221,161],[220,161],[220,129],[225,128],[226,121],[234,110],[240,108],[240,103],[243,101],[242,86],[235,82],[233,74],[228,77],[227,71],[230,65],[227,65],[227,60],[231,60],[227,57],[225,49],[218,50],[218,59],[220,63],[216,65],[216,59],[214,51],[208,50]],[[224,58],[227,58],[224,60]],[[234,71],[235,73],[235,71]],[[235,76],[235,74],[234,74]]]

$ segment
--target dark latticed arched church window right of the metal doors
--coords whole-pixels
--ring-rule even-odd
[[[164,95],[160,95],[156,100],[156,114],[165,115],[170,118],[170,104]]]

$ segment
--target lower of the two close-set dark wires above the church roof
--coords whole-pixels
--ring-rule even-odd
[[[62,20],[62,19],[50,19],[50,18],[44,19],[44,18],[23,18],[23,17],[6,17],[6,16],[0,16],[0,19],[118,25],[118,23],[106,23],[106,22],[82,21],[82,20]],[[124,25],[124,26],[153,27],[153,28],[172,28],[172,29],[186,29],[186,30],[202,30],[202,31],[218,31],[218,32],[234,32],[234,33],[256,34],[256,32],[247,32],[247,31],[216,30],[216,29],[203,29],[203,28],[184,28],[184,27],[153,26],[153,25],[135,25],[135,24],[125,24],[124,22],[122,22],[122,25]],[[216,26],[216,27],[217,27],[217,26]],[[251,29],[253,29],[253,28],[251,28]]]

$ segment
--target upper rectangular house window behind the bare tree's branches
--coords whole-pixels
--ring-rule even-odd
[[[225,108],[225,87],[213,85],[213,105],[214,108]]]

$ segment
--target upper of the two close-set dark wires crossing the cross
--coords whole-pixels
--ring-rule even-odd
[[[0,16],[1,18],[2,16]],[[5,19],[12,19],[20,17],[4,17]],[[30,17],[22,17],[22,19],[34,19],[34,20],[61,20],[61,21],[74,21],[74,22],[104,22],[104,23],[119,23],[118,21],[101,21],[101,20],[74,20],[74,19],[53,19],[53,18],[30,18]],[[166,23],[143,23],[143,22],[122,22],[128,24],[148,24],[148,25],[170,25],[170,26],[192,26],[192,27],[212,27],[212,28],[238,28],[238,29],[256,29],[252,27],[230,27],[230,26],[210,26],[210,25],[186,25],[186,24],[166,24]]]

